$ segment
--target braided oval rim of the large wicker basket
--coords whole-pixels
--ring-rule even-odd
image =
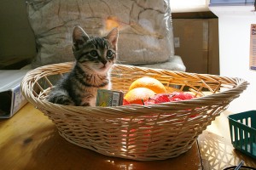
[[[67,65],[67,67],[70,67],[70,65],[73,64],[73,62],[52,64],[52,65],[44,65],[44,66],[38,67],[38,68],[36,68],[36,69],[34,69],[32,71],[27,72],[26,76],[23,78],[23,81],[21,82],[21,87],[23,89],[22,92],[26,96],[26,98],[33,99],[35,103],[41,103],[43,105],[47,105],[47,106],[53,107],[55,109],[62,108],[62,109],[67,110],[67,111],[75,110],[75,111],[79,111],[81,113],[84,112],[84,111],[98,111],[98,110],[108,111],[109,109],[125,110],[127,112],[128,111],[132,111],[134,109],[137,109],[137,110],[151,109],[151,108],[158,109],[158,108],[162,108],[162,107],[168,107],[168,108],[175,109],[179,105],[187,105],[188,108],[191,108],[191,107],[193,108],[193,107],[195,107],[195,106],[193,106],[195,104],[201,105],[202,101],[208,101],[209,105],[211,105],[210,104],[211,102],[212,103],[216,103],[216,102],[218,102],[219,99],[224,99],[224,98],[229,99],[230,94],[232,94],[232,95],[240,94],[241,91],[245,90],[247,88],[247,85],[249,84],[247,81],[245,81],[242,78],[238,78],[238,77],[234,77],[234,78],[222,77],[224,79],[229,79],[229,80],[232,80],[233,82],[236,82],[236,84],[237,84],[236,87],[235,88],[227,89],[227,90],[225,90],[223,92],[219,92],[218,94],[209,94],[209,95],[206,95],[206,96],[201,96],[201,97],[197,97],[195,99],[189,99],[189,100],[166,102],[166,103],[154,104],[154,105],[120,105],[120,106],[108,106],[108,107],[101,107],[101,106],[86,106],[86,107],[84,107],[84,106],[73,106],[73,105],[58,105],[58,104],[50,103],[47,100],[41,100],[41,99],[35,98],[33,95],[27,96],[27,94],[24,93],[24,88],[26,88],[26,77],[29,77],[31,74],[32,75],[38,74],[38,72],[40,72],[40,70],[44,69],[44,68],[57,67],[59,65],[61,65],[61,67],[63,67],[63,64],[64,64],[64,66]],[[114,66],[137,68],[137,69],[141,69],[142,71],[144,69],[146,69],[147,71],[166,71],[164,69],[152,69],[152,68],[138,67],[138,66],[135,66],[135,65],[119,65],[119,64],[115,64]],[[60,70],[62,70],[62,68]],[[182,73],[182,74],[189,75],[189,76],[194,76],[194,77],[195,76],[199,76],[199,77],[200,76],[201,77],[209,76],[208,74],[197,74],[197,73],[189,73],[189,72],[183,72],[183,71],[171,71],[171,72],[177,73],[177,74]],[[212,76],[221,77],[221,76],[217,76],[217,75],[212,75]],[[30,94],[32,94],[32,93],[30,93]],[[212,99],[214,99],[214,101],[212,101]],[[163,112],[163,111],[160,111],[160,112]],[[127,113],[125,113],[125,114],[127,114]],[[147,114],[148,113],[145,112],[145,115],[147,115]]]

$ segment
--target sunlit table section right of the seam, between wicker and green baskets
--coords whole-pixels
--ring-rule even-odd
[[[198,138],[204,169],[224,169],[238,165],[241,160],[245,161],[246,166],[256,167],[256,160],[235,150],[231,144],[227,118],[230,114],[230,111],[221,113]]]

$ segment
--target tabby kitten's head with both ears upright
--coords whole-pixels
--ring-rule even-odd
[[[119,32],[113,28],[106,37],[89,37],[80,26],[73,29],[73,54],[84,71],[106,74],[117,58]]]

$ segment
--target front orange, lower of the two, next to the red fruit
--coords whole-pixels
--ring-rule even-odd
[[[130,104],[143,105],[143,102],[154,96],[154,91],[149,88],[133,88],[125,94],[125,98]],[[143,101],[142,101],[143,99]]]

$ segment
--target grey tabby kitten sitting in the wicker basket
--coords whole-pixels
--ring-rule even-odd
[[[49,92],[47,100],[61,105],[95,106],[98,88],[110,89],[108,71],[117,58],[118,29],[106,37],[89,37],[75,26],[73,29],[73,70]]]

